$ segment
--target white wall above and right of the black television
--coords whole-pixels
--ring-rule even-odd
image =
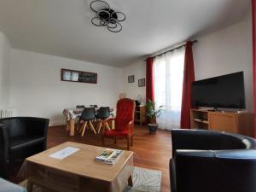
[[[199,37],[193,46],[195,79],[244,72],[246,105],[253,111],[253,55],[251,12],[233,26]]]

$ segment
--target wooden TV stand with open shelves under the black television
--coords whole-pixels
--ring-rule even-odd
[[[253,137],[253,113],[190,110],[192,129],[225,131]]]

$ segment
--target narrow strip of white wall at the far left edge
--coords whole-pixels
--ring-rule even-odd
[[[0,32],[0,109],[9,106],[9,61],[11,47],[8,38]]]

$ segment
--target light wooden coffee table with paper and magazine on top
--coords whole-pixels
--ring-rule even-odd
[[[49,157],[66,147],[79,151],[63,160]],[[60,192],[122,192],[127,181],[132,185],[133,152],[123,151],[114,165],[107,165],[95,160],[104,149],[67,142],[27,158],[27,191],[32,192],[33,184],[37,184]]]

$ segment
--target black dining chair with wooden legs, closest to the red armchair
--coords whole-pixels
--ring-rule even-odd
[[[109,109],[109,107],[101,107],[101,108],[99,108],[99,110],[97,111],[97,114],[96,114],[96,119],[99,120],[99,125],[97,127],[98,133],[101,131],[102,126],[106,127],[108,130],[110,130],[110,127],[109,127],[108,121],[107,121],[109,116],[110,116],[110,109]]]

